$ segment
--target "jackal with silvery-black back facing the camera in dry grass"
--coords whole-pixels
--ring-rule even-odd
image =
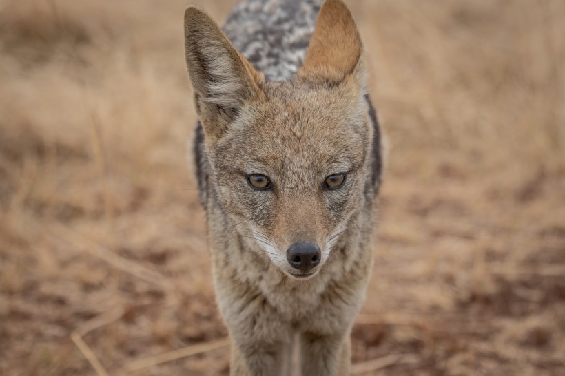
[[[348,375],[382,165],[358,30],[341,0],[250,0],[223,30],[187,8],[196,170],[231,375],[287,375],[295,345],[303,376]]]

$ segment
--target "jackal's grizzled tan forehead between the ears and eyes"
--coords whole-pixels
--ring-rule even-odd
[[[263,103],[242,112],[215,154],[285,185],[357,169],[367,154],[362,105],[340,91],[267,91]]]

